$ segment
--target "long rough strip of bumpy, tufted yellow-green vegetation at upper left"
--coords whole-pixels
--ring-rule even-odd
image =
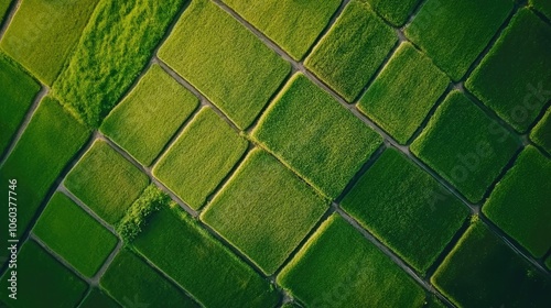
[[[121,99],[185,0],[99,0],[68,65],[53,85],[61,102],[91,128]]]

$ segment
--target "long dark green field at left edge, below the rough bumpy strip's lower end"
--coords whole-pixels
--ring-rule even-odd
[[[10,179],[18,182],[17,204],[22,205],[18,209],[18,238],[29,227],[52,185],[88,135],[89,131],[66,113],[56,100],[51,97],[42,99],[23,135],[0,168],[1,183],[9,183]],[[1,217],[8,221],[8,211]],[[7,242],[7,231],[0,232],[3,242]]]

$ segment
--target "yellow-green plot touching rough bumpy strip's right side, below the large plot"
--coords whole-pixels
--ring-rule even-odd
[[[197,106],[198,99],[155,64],[100,130],[149,166]]]

